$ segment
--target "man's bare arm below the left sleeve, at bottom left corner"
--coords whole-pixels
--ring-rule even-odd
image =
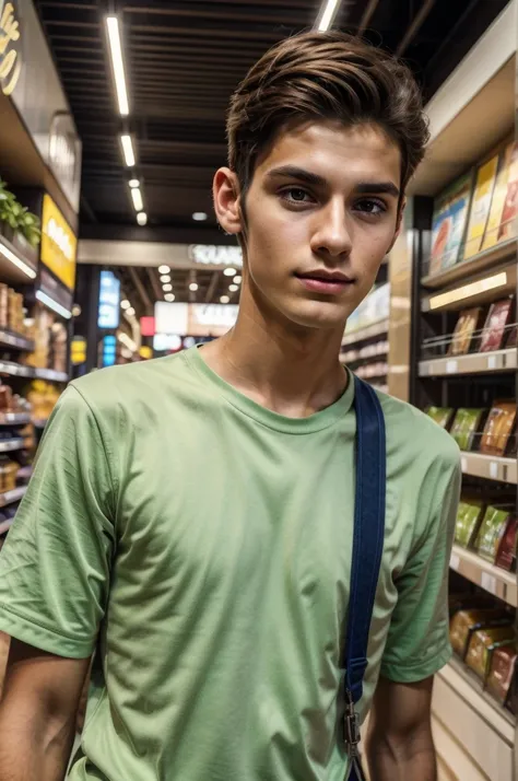
[[[63,781],[89,663],[12,640],[0,702],[2,781]]]

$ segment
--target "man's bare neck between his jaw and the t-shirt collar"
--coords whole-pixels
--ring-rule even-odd
[[[338,355],[343,327],[289,328],[242,308],[235,327],[205,345],[202,357],[225,382],[267,409],[306,418],[329,407],[345,391]]]

